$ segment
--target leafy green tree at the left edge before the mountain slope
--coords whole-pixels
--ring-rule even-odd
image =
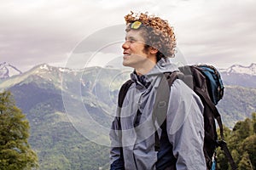
[[[31,149],[29,122],[10,92],[0,93],[0,169],[22,170],[38,167],[38,156]]]

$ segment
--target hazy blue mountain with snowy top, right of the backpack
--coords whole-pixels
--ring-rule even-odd
[[[225,85],[256,88],[256,64],[219,70]]]

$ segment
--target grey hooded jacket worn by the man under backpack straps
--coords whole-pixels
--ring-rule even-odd
[[[154,150],[155,125],[152,111],[156,88],[160,84],[160,72],[177,71],[177,66],[161,59],[143,77],[131,73],[131,84],[122,108],[119,125],[113,122],[110,132],[112,148],[110,151],[111,169],[114,163],[123,158],[125,170],[154,170],[158,161]],[[157,74],[156,74],[157,73]],[[137,123],[138,112],[141,113]],[[206,170],[203,153],[204,122],[201,99],[181,80],[173,82],[166,116],[166,132],[172,144],[172,154],[177,159],[177,170]],[[161,128],[157,133],[161,135]],[[122,148],[120,148],[121,146]],[[122,154],[121,154],[122,152]],[[120,157],[123,156],[123,157]],[[122,162],[123,162],[122,161]]]

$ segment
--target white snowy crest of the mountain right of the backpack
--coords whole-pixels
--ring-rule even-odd
[[[247,74],[247,75],[256,76],[256,64],[253,63],[249,66],[232,65],[228,69],[221,70],[221,72],[236,73],[236,74]]]

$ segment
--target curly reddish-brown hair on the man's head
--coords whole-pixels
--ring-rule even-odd
[[[141,26],[142,35],[146,42],[145,48],[154,47],[159,50],[156,54],[157,60],[161,58],[174,57],[176,38],[173,28],[169,26],[167,20],[162,20],[160,17],[148,15],[148,13],[135,14],[131,11],[130,14],[125,15],[126,30],[130,31],[131,23],[140,21],[143,23]]]

